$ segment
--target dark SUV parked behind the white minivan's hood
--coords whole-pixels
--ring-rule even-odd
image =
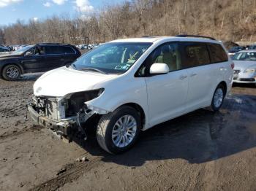
[[[70,44],[31,44],[10,55],[0,56],[0,77],[15,80],[20,74],[43,72],[69,65],[80,57]]]

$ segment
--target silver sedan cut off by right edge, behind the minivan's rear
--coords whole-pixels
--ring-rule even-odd
[[[256,50],[242,50],[233,56],[233,82],[256,85]]]

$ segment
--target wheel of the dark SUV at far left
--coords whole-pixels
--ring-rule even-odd
[[[10,64],[4,67],[2,71],[2,77],[8,81],[14,81],[20,77],[20,68],[14,64]]]

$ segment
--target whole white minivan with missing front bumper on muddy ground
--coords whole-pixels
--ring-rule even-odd
[[[100,147],[117,154],[141,130],[207,106],[219,110],[232,69],[222,42],[205,36],[119,39],[43,74],[28,107],[35,122],[69,139],[95,125]]]

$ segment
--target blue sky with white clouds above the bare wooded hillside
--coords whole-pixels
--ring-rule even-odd
[[[16,20],[42,20],[52,15],[89,15],[105,4],[124,0],[0,0],[0,26]]]

